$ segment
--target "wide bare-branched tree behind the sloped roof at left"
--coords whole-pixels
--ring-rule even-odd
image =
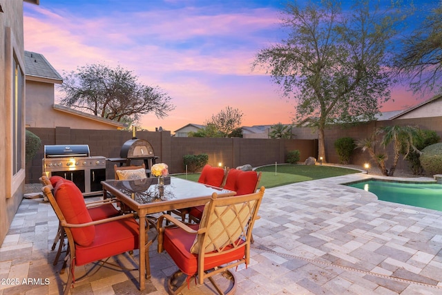
[[[133,122],[141,115],[166,117],[175,106],[158,87],[140,84],[130,70],[92,64],[77,68],[64,77],[60,86],[64,106],[77,108],[118,122]]]

